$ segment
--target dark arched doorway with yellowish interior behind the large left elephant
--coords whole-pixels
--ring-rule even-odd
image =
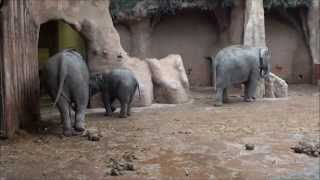
[[[63,49],[76,49],[84,59],[87,59],[85,40],[72,26],[61,20],[42,24],[38,41],[39,74],[48,59]],[[40,82],[40,111],[51,108],[52,100]]]

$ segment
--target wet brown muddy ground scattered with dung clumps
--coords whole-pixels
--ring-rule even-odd
[[[319,91],[289,89],[287,99],[233,96],[219,108],[210,89],[197,89],[190,103],[136,108],[127,119],[91,110],[100,141],[62,137],[54,116],[41,134],[0,141],[0,179],[319,179],[319,158],[291,149],[319,138]]]

